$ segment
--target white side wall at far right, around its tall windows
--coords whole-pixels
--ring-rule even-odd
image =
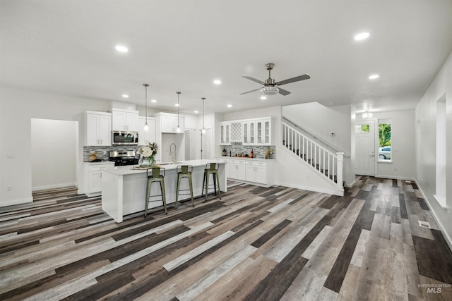
[[[436,201],[436,101],[446,94],[446,208]],[[416,180],[452,247],[452,53],[415,110]],[[428,149],[428,156],[426,151]]]

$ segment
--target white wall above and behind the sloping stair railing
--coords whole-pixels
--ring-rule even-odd
[[[355,182],[355,168],[352,166],[352,113],[355,109],[350,105],[326,107],[318,102],[283,106],[283,116],[300,125],[309,133],[314,134],[328,144],[344,152],[345,185]],[[331,133],[335,133],[334,136]]]

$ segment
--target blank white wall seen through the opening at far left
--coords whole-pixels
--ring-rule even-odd
[[[32,118],[32,190],[76,186],[77,148],[77,121]]]

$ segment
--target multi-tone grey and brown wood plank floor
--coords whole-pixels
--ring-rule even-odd
[[[415,183],[229,184],[123,223],[75,189],[0,208],[0,300],[452,300],[452,252]]]

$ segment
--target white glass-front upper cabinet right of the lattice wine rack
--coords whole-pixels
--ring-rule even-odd
[[[242,120],[243,145],[273,145],[272,118]]]

